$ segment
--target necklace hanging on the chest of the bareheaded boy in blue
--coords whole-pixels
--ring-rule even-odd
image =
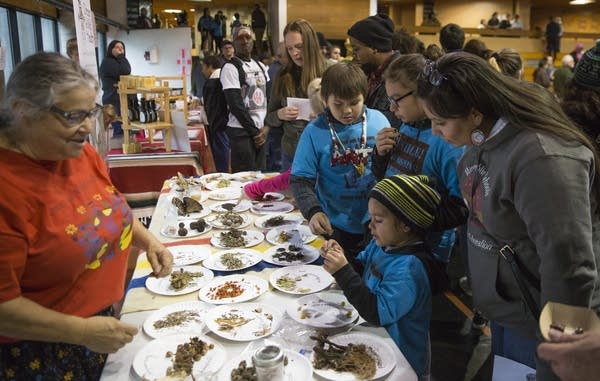
[[[331,146],[333,153],[331,154],[331,166],[335,167],[338,164],[352,164],[359,176],[364,175],[365,167],[369,162],[369,155],[373,151],[372,147],[367,147],[367,116],[363,111],[361,124],[362,131],[360,136],[360,145],[358,148],[349,148],[344,145],[333,128],[333,116],[330,112],[327,113],[327,122],[329,132],[331,134]],[[341,149],[341,151],[340,151]]]

